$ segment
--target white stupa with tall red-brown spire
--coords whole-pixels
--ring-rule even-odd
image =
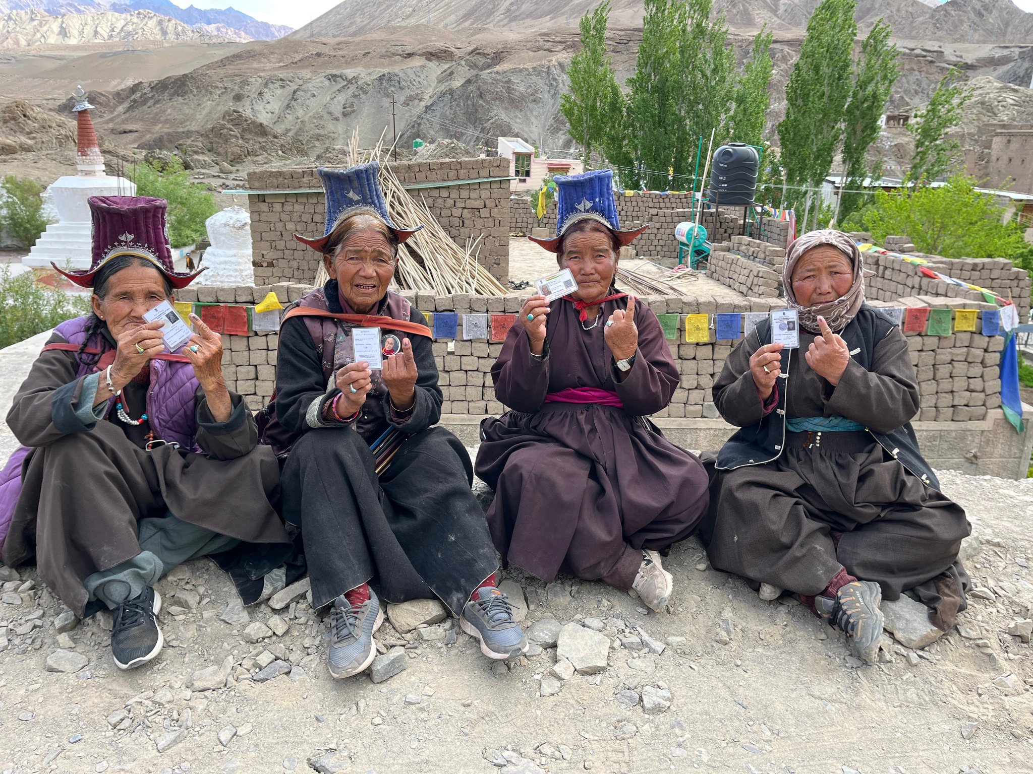
[[[135,196],[136,184],[125,178],[104,173],[104,159],[100,155],[97,133],[93,129],[90,109],[93,107],[80,86],[72,93],[76,99],[77,137],[75,166],[79,174],[58,178],[44,196],[58,213],[58,222],[46,227],[22,263],[30,268],[50,268],[51,261],[61,268],[90,267],[90,207],[91,196]]]

